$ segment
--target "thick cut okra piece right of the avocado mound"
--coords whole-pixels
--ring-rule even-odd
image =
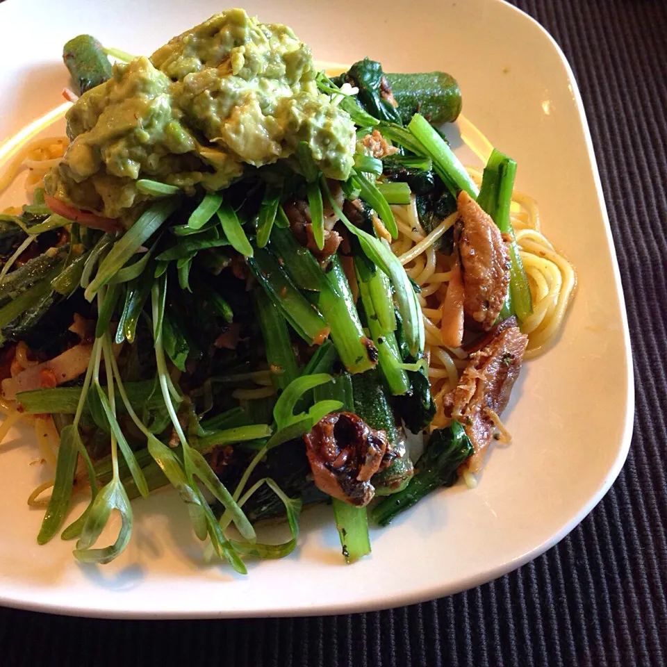
[[[453,123],[461,113],[461,89],[446,72],[385,75],[401,120],[408,124],[419,112],[431,124]]]

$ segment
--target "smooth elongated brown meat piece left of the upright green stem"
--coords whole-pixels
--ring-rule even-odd
[[[500,229],[468,192],[457,199],[454,241],[463,279],[463,311],[472,327],[493,327],[507,297],[509,250]]]

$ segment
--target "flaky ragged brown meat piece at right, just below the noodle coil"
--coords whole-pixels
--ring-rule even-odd
[[[484,349],[470,355],[459,385],[445,396],[445,415],[461,422],[475,447],[472,472],[484,461],[484,450],[495,432],[493,417],[507,406],[527,343],[528,336],[518,327],[502,329]]]

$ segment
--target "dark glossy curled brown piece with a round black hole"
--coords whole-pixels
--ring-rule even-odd
[[[375,495],[370,478],[387,451],[384,431],[375,431],[351,412],[325,415],[304,435],[315,486],[362,507]]]

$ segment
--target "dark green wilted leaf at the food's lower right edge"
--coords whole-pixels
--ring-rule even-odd
[[[397,514],[412,507],[431,491],[440,486],[452,486],[459,477],[459,466],[472,452],[472,443],[459,422],[433,431],[408,486],[379,502],[372,510],[373,519],[386,526]]]

